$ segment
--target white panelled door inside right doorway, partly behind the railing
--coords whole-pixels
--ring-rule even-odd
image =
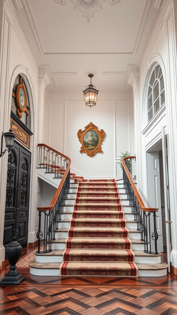
[[[147,152],[146,158],[147,158],[148,207],[158,208],[158,212],[156,213],[157,233],[158,233],[157,250],[158,252],[163,252],[159,152]],[[153,224],[153,222],[151,222],[151,224]]]

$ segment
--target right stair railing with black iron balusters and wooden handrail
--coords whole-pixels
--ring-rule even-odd
[[[144,242],[144,252],[148,254],[158,254],[157,251],[157,225],[156,212],[158,208],[146,208],[139,192],[132,179],[132,160],[136,157],[123,157],[123,186],[129,199],[129,205],[134,214],[134,221],[137,222],[137,231],[140,232],[141,241]],[[135,177],[134,177],[135,178]],[[152,218],[153,216],[153,218]],[[153,226],[153,228],[152,228]],[[151,251],[152,241],[154,241],[155,253]]]

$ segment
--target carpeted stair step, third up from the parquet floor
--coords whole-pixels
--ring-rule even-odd
[[[66,249],[131,249],[131,241],[129,238],[67,238]]]

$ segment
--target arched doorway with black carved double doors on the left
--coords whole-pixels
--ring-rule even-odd
[[[24,79],[18,75],[14,82],[11,103],[10,128],[16,135],[16,141],[8,155],[4,247],[11,241],[12,229],[19,231],[18,241],[21,246],[27,246],[31,165],[29,147],[32,135],[30,125],[28,92]]]

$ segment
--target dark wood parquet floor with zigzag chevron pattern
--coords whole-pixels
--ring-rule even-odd
[[[0,315],[177,315],[177,277],[56,278],[30,275],[0,287]],[[0,278],[8,272],[3,269]]]

